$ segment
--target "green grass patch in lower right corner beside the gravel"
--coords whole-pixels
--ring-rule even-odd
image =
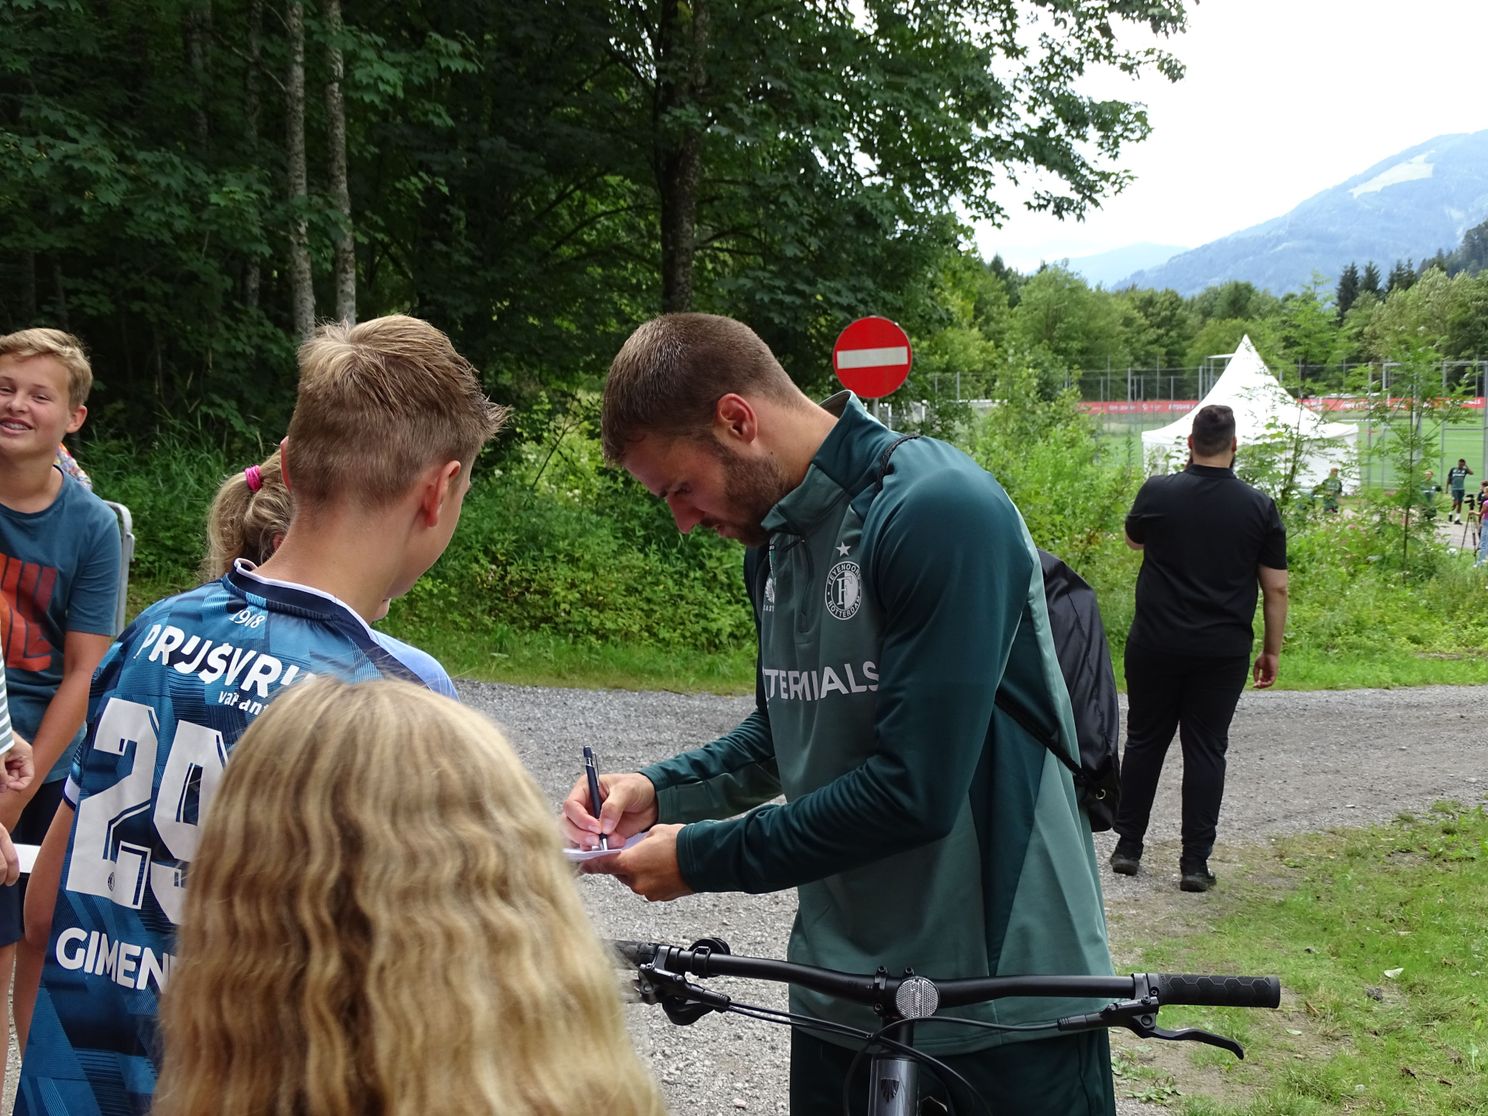
[[[1189,911],[1198,924],[1120,967],[1275,973],[1283,1006],[1165,1010],[1164,1025],[1232,1036],[1247,1058],[1138,1043],[1143,1088],[1173,1077],[1152,1100],[1184,1116],[1488,1113],[1488,809],[1277,839]],[[1132,1046],[1119,1049],[1140,1064]]]

